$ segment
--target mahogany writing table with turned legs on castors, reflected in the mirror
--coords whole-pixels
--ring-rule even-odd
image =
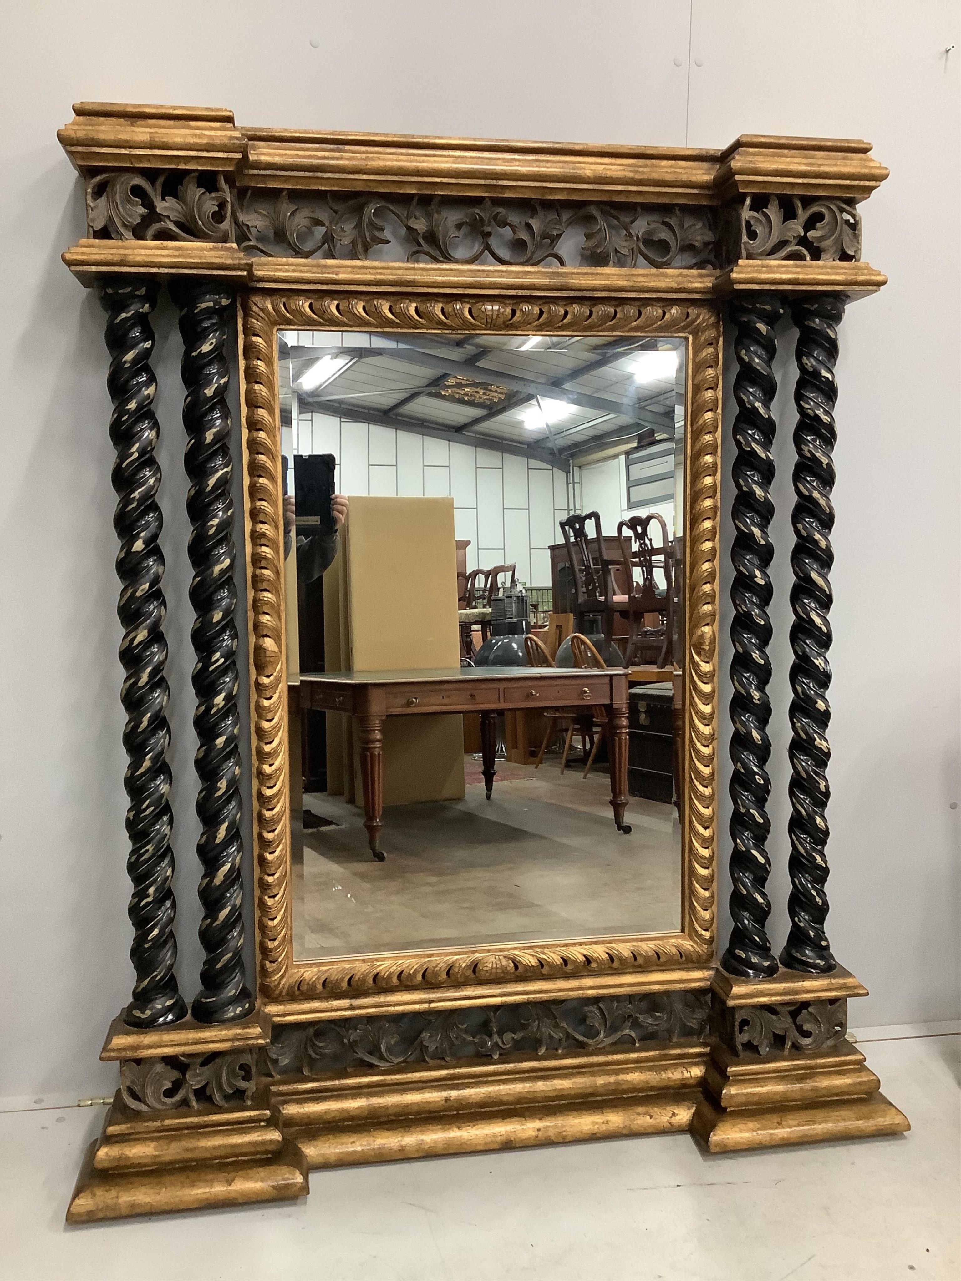
[[[619,831],[628,804],[628,673],[587,667],[433,667],[423,671],[300,674],[301,707],[352,716],[360,738],[364,826],[370,852],[383,860],[383,722],[387,716],[481,712],[484,785],[491,799],[496,716],[522,707],[607,707],[611,806]]]

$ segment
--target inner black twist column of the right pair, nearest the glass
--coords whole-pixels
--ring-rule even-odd
[[[768,646],[771,624],[768,606],[773,589],[768,573],[774,557],[768,528],[774,514],[770,487],[774,479],[774,415],[771,401],[778,389],[771,363],[776,352],[774,327],[783,307],[773,295],[759,293],[730,305],[737,325],[734,352],[738,373],[734,379],[734,419],[737,456],[732,475],[737,494],[732,510],[734,542],[730,559],[734,580],[730,597],[734,620],[730,639],[734,657],[730,680],[730,758],[734,772],[730,798],[730,915],[732,930],[721,966],[743,979],[765,979],[778,972],[765,926],[771,904],[765,885],[771,863],[768,857],[768,798],[771,784],[766,765],[771,755],[768,722],[771,705],[768,684],[771,664]]]

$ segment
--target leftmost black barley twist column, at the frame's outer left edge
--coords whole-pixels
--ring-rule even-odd
[[[118,497],[114,529],[120,539],[117,614],[123,625],[120,662],[126,675],[120,702],[127,712],[123,746],[129,758],[123,785],[129,798],[127,872],[133,894],[128,915],[133,925],[131,961],[137,975],[123,1021],[131,1027],[160,1027],[183,1018],[187,1006],[173,974],[177,903],[170,889],[173,815],[167,763],[170,689],[164,676],[164,553],[158,542],[163,528],[156,505],[160,468],[154,457],[160,429],[154,415],[156,378],[150,368],[150,313],[156,306],[158,287],[146,281],[109,278],[100,282],[99,292],[108,313],[106,386],[114,405],[110,439],[117,450],[111,474]]]

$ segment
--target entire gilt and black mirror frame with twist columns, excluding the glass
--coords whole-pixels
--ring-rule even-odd
[[[844,305],[884,283],[860,261],[857,206],[887,175],[870,146],[752,136],[716,152],[242,129],[231,111],[196,108],[74,113],[59,136],[85,182],[88,227],[64,261],[108,313],[137,981],[104,1045],[120,1088],[68,1220],[287,1199],[308,1191],[309,1168],[364,1161],[671,1130],[724,1150],[906,1129],[844,1039],[847,999],[865,989],[824,933],[833,368]],[[174,976],[163,640],[174,602],[161,584],[150,368],[163,282],[185,341],[193,529],[205,959],[190,1015]],[[735,769],[733,929],[719,963],[725,310],[738,365]],[[766,934],[766,571],[771,361],[788,313],[803,555],[792,597],[792,933],[779,963]],[[242,457],[226,395],[234,318]],[[295,959],[277,333],[318,328],[686,339],[679,931]],[[233,466],[245,479],[250,798],[240,790]],[[774,851],[784,844],[771,838]]]

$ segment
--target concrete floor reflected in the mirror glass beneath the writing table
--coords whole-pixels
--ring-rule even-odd
[[[337,826],[292,831],[297,959],[680,929],[677,810],[632,797],[621,834],[610,794],[601,770],[510,766],[489,801],[469,784],[464,801],[386,810],[383,863],[360,810],[309,794]]]

